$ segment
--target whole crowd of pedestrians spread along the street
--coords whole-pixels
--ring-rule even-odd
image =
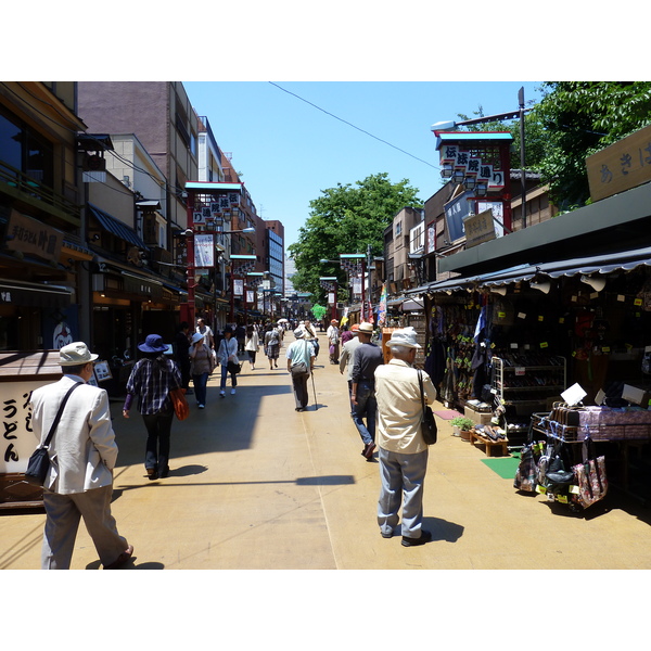
[[[264,328],[250,324],[243,329],[242,341],[238,340],[233,328],[227,327],[216,343],[210,328],[199,319],[193,332],[187,322],[180,324],[174,348],[158,334],[149,334],[138,345],[141,358],[135,363],[126,384],[123,416],[129,418],[137,400],[146,432],[144,468],[149,480],[164,478],[169,473],[175,414],[169,392],[186,390],[187,395],[195,396],[197,408],[204,409],[208,378],[219,366],[220,397],[226,397],[229,376],[230,393],[234,395],[241,370],[239,355],[247,356],[254,371],[261,345],[269,369],[278,369],[280,348],[289,329],[292,329],[294,341],[286,346],[285,358],[295,410],[303,412],[308,408],[308,380],[319,355],[317,332],[308,320],[283,321],[267,322]],[[339,365],[340,373],[345,374],[350,417],[363,444],[361,455],[372,462],[378,449],[380,533],[384,538],[394,535],[401,508],[403,545],[411,547],[427,542],[431,533],[421,525],[429,449],[421,434],[421,388],[413,366],[420,348],[416,332],[412,328],[392,332],[386,342],[387,363],[382,346],[373,341],[371,323],[354,324],[350,329],[344,324],[340,329],[332,320],[326,336],[330,363]],[[31,396],[35,432],[41,443],[52,425],[62,396],[71,386],[88,382],[97,357],[82,342],[61,349],[63,380],[36,390]],[[193,391],[189,386],[190,379]],[[422,372],[422,380],[423,400],[432,404],[436,390],[427,373]],[[342,391],[346,388],[342,387]],[[104,567],[122,566],[131,558],[133,548],[117,533],[111,515],[111,471],[116,462],[117,446],[106,392],[87,385],[71,398],[71,408],[61,422],[64,426],[60,426],[62,431],[50,447],[52,469],[44,485],[47,521],[41,566],[69,567],[81,518]]]

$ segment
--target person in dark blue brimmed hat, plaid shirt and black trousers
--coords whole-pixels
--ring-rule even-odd
[[[127,397],[123,416],[129,418],[133,397],[138,396],[138,411],[146,430],[144,469],[150,480],[169,474],[169,439],[174,406],[169,392],[181,387],[181,372],[165,353],[169,346],[159,334],[149,334],[138,344],[143,354],[127,380]]]

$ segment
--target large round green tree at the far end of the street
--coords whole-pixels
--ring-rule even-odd
[[[392,183],[386,173],[371,175],[355,186],[337,183],[336,188],[321,191],[310,201],[310,213],[298,230],[298,241],[289,246],[296,273],[292,284],[299,292],[310,292],[315,301],[323,301],[326,291],[320,286],[322,276],[339,279],[340,299],[345,297],[345,272],[339,263],[342,253],[383,253],[384,229],[406,206],[422,207],[418,189],[407,179]]]

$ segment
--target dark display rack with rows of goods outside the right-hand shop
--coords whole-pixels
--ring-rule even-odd
[[[494,355],[492,392],[506,409],[511,442],[526,439],[531,416],[549,410],[550,401],[560,399],[566,387],[566,361],[559,355]]]

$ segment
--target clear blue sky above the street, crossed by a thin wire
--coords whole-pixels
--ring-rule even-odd
[[[273,84],[183,86],[221,150],[232,153],[258,214],[283,222],[286,244],[296,241],[309,202],[337,183],[387,173],[393,182],[409,179],[425,201],[442,184],[432,124],[474,117],[480,106],[485,115],[516,110],[521,87],[525,101],[540,98],[537,81]]]

